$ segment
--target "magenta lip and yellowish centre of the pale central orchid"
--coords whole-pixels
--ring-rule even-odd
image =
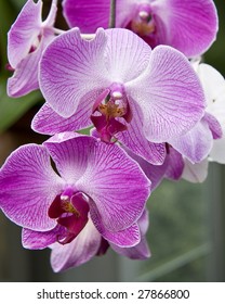
[[[127,130],[125,123],[131,122],[131,110],[120,84],[112,84],[95,101],[91,115],[101,139],[110,142],[119,131]]]

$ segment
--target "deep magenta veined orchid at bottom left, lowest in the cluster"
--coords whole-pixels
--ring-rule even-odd
[[[78,246],[80,264],[97,253],[102,238],[116,248],[143,238],[138,220],[150,181],[117,144],[64,132],[23,145],[2,166],[0,187],[0,207],[24,228],[26,248],[53,246],[57,255],[74,242],[62,251]]]

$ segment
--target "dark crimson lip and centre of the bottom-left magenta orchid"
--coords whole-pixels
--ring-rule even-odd
[[[81,192],[68,189],[57,195],[49,208],[49,216],[65,228],[57,240],[62,244],[70,243],[84,228],[89,217],[89,204]]]

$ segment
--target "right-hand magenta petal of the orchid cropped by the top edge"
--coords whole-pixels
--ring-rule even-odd
[[[217,13],[212,0],[153,1],[159,43],[187,56],[206,52],[216,38]]]

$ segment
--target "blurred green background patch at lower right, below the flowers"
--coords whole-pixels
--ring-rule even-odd
[[[207,280],[203,262],[210,245],[203,187],[185,180],[164,180],[151,193],[148,201],[150,227],[147,236],[151,258],[141,270],[140,280]]]

